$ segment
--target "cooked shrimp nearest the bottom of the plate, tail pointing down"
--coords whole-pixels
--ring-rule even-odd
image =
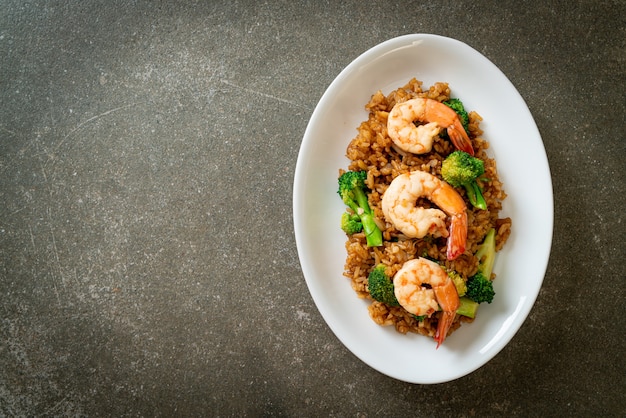
[[[437,325],[437,348],[448,335],[459,308],[459,294],[445,270],[425,258],[409,260],[393,277],[394,293],[400,306],[413,315],[431,316],[443,311]]]

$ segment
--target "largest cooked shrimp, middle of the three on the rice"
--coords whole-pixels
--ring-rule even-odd
[[[416,206],[425,197],[442,210]],[[401,174],[389,185],[382,199],[385,217],[409,238],[426,235],[447,237],[447,257],[454,260],[465,252],[467,213],[463,198],[448,183],[424,171]],[[446,230],[446,214],[450,230]]]

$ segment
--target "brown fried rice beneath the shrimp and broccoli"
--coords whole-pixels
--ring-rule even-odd
[[[369,315],[377,324],[393,325],[402,334],[413,332],[432,337],[437,329],[440,314],[420,320],[402,307],[392,307],[375,301],[371,298],[367,288],[367,277],[370,271],[382,263],[386,266],[387,274],[393,277],[406,261],[417,257],[428,257],[439,262],[446,269],[455,270],[467,280],[477,272],[479,260],[473,254],[476,253],[487,232],[495,228],[496,250],[499,251],[511,232],[511,219],[499,217],[506,193],[498,179],[496,161],[487,153],[489,143],[481,137],[482,118],[474,111],[469,112],[469,137],[475,157],[484,162],[485,174],[481,176],[480,185],[488,210],[474,208],[466,197],[465,189],[456,188],[466,201],[468,212],[465,253],[455,260],[448,260],[445,238],[431,236],[421,239],[407,238],[385,219],[381,206],[382,196],[395,177],[414,170],[422,170],[441,178],[441,163],[455,150],[452,143],[442,137],[435,139],[432,151],[427,154],[411,154],[394,146],[387,135],[387,117],[396,103],[413,98],[429,98],[443,102],[450,99],[450,87],[447,83],[439,82],[424,88],[421,81],[413,78],[406,85],[386,96],[382,91],[376,92],[365,105],[365,109],[369,112],[368,119],[359,125],[356,137],[348,145],[346,155],[350,163],[347,169],[367,172],[366,184],[370,189],[369,204],[383,233],[384,242],[380,247],[368,247],[363,233],[347,236],[344,276],[350,279],[358,297],[371,301],[368,307]],[[340,169],[339,175],[343,172],[344,170]],[[425,199],[420,199],[418,204],[423,207],[431,205]],[[492,275],[492,278],[495,279],[495,275]],[[449,333],[457,329],[461,322],[472,321],[471,318],[457,315]]]

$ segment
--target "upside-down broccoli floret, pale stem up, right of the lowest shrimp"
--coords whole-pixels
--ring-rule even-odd
[[[479,260],[478,271],[467,279],[467,293],[465,295],[474,302],[491,303],[495,295],[491,281],[493,264],[496,259],[496,230],[494,228],[487,232],[475,255]]]

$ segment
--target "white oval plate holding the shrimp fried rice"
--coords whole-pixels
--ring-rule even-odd
[[[498,253],[496,297],[481,305],[435,349],[431,338],[402,335],[369,317],[342,273],[346,250],[339,227],[345,210],[337,195],[346,147],[367,118],[365,104],[377,90],[388,94],[415,77],[425,86],[448,82],[453,97],[483,118],[508,198],[502,217],[512,233]],[[532,170],[529,169],[532,162]],[[528,316],[548,264],[553,227],[550,169],[535,122],[507,77],[468,45],[415,34],[383,42],[350,63],[328,87],[304,134],[295,170],[293,216],[302,271],[311,296],[341,342],[372,368],[411,383],[441,383],[484,365],[513,338]]]

